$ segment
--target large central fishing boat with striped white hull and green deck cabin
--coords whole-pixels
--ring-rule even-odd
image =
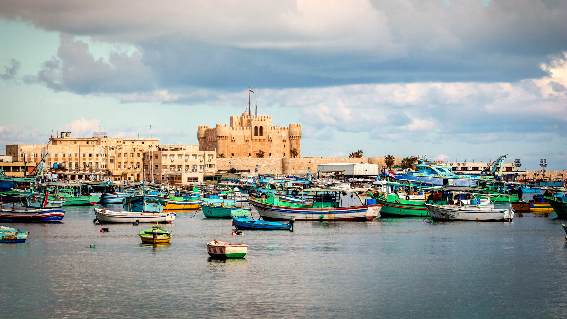
[[[363,203],[357,192],[330,188],[312,189],[311,203],[281,202],[278,196],[250,198],[264,220],[369,221],[378,217],[381,205]],[[350,194],[349,194],[350,193]],[[352,195],[352,196],[351,196]]]

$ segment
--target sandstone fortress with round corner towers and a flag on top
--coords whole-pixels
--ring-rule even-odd
[[[226,158],[256,157],[262,150],[264,157],[301,157],[301,124],[289,127],[272,125],[272,116],[252,116],[244,112],[230,117],[230,126],[217,124],[197,127],[199,150],[216,150]]]

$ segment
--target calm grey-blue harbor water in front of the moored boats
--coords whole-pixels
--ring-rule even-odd
[[[555,213],[297,221],[294,232],[231,236],[231,220],[190,211],[164,225],[170,244],[153,246],[137,236],[151,224],[99,225],[92,207],[65,209],[62,223],[5,224],[30,234],[0,245],[0,317],[565,317],[567,241]],[[213,239],[242,240],[248,254],[210,259]]]

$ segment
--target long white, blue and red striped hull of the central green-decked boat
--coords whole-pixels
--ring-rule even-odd
[[[325,220],[325,221],[370,221],[378,217],[382,205],[363,205],[339,208],[296,208],[270,205],[261,200],[250,199],[264,220]]]

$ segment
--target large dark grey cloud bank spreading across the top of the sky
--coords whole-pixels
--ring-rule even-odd
[[[79,94],[235,90],[244,82],[274,89],[517,82],[547,75],[540,65],[567,50],[566,7],[486,3],[22,0],[3,1],[0,16],[61,32],[57,57],[27,80]],[[137,49],[95,60],[88,45],[67,35]]]

